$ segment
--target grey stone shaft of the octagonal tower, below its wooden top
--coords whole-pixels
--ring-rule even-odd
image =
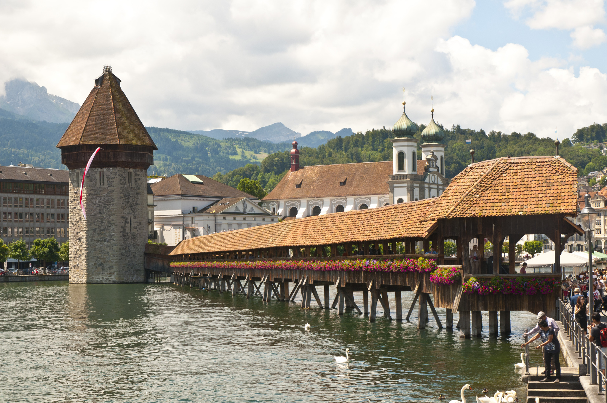
[[[148,173],[143,169],[70,170],[70,283],[145,281],[148,242]]]

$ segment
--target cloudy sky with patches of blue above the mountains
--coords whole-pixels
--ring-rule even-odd
[[[418,123],[569,137],[607,121],[603,0],[0,2],[0,83],[83,103],[113,67],[148,126]]]

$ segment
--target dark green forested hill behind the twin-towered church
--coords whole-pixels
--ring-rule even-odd
[[[439,124],[439,126],[441,125]],[[419,125],[418,132],[415,134],[416,138],[421,139],[421,132],[425,127],[423,124]],[[441,127],[445,132],[445,173],[448,178],[453,178],[470,164],[470,149],[475,150],[476,162],[507,155],[522,157],[555,154],[552,138],[538,138],[531,132],[526,134],[512,132],[507,135],[491,131],[487,134],[482,129],[478,131],[462,129],[459,125],[452,126],[450,129]],[[339,136],[316,148],[302,147],[299,163],[300,166],[309,166],[391,161],[391,138],[393,138],[392,130],[385,129],[385,127],[379,130],[367,130],[364,134],[359,132],[347,137]],[[573,138],[577,140],[575,146],[566,138],[560,146],[559,154],[580,169],[579,175],[586,175],[590,171],[597,171],[607,166],[607,156],[604,156],[601,151],[582,146],[607,138],[607,124],[595,124],[578,129]],[[472,144],[466,144],[466,139],[472,140]],[[419,151],[418,158],[421,158]],[[250,178],[258,180],[265,191],[270,192],[289,168],[289,152],[283,151],[268,155],[260,166],[245,166],[227,174],[217,174],[214,178],[234,187],[242,178]]]

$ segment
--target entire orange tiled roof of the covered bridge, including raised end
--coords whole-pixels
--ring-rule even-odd
[[[562,158],[498,158],[468,166],[439,197],[204,235],[172,254],[427,237],[440,218],[575,214],[576,174]]]

